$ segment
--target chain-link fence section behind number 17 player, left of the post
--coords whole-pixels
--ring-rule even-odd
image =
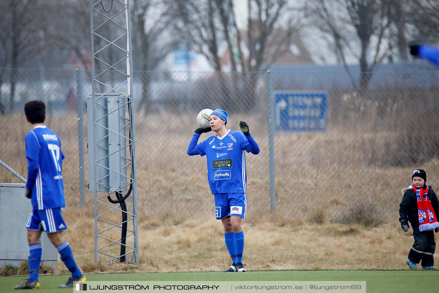
[[[62,137],[62,151],[67,157],[64,169],[77,174],[78,118],[76,77],[72,70],[0,69],[0,159],[26,178],[24,139],[32,127],[26,122],[23,108],[27,101],[36,99],[46,103],[47,127]],[[67,176],[72,186],[79,186],[78,176]],[[22,183],[3,167],[0,181]]]

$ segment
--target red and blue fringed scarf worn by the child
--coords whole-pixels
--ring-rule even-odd
[[[416,189],[416,187],[414,187],[414,185],[412,184],[410,188],[413,188],[413,191],[416,192],[419,231],[430,231],[438,228],[439,222],[437,221],[432,203],[430,203],[430,199],[427,196],[428,185],[425,184],[425,189]]]

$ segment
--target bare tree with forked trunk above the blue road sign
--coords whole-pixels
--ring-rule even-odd
[[[309,0],[306,15],[323,33],[331,36],[335,54],[347,66],[347,54],[360,65],[360,88],[367,88],[376,66],[388,55],[383,43],[390,25],[388,6],[381,0]]]

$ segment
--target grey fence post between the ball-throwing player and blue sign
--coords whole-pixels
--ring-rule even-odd
[[[274,100],[273,100],[273,83],[271,81],[271,72],[267,70],[267,87],[268,87],[268,148],[270,153],[270,212],[276,210],[275,194],[275,175],[274,175]]]

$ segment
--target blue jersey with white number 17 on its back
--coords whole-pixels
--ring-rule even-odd
[[[65,156],[58,135],[44,125],[37,125],[26,134],[25,142],[26,188],[32,189],[32,206],[38,206],[38,210],[64,207],[62,160]]]

